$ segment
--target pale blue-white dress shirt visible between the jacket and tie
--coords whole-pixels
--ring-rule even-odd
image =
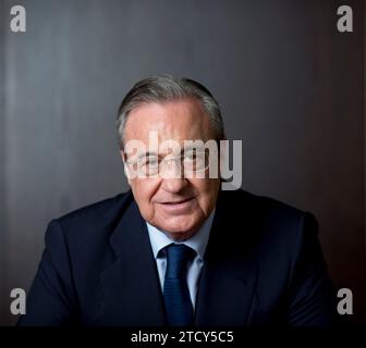
[[[171,239],[166,233],[146,222],[152,248],[152,253],[158,268],[161,290],[163,289],[166,269],[167,269],[167,258],[164,256],[161,256],[161,252],[159,254],[159,251],[172,243],[185,244],[187,247],[196,251],[195,258],[187,264],[187,285],[193,309],[195,309],[196,304],[198,279],[200,270],[204,265],[204,254],[206,251],[208,237],[211,229],[213,215],[215,215],[215,209],[208,216],[208,219],[205,221],[204,225],[199,228],[199,231],[195,235],[193,235],[190,239],[186,239],[184,241],[175,241]]]

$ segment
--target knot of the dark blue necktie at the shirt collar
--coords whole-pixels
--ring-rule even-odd
[[[166,277],[180,278],[185,276],[187,263],[193,260],[195,251],[184,244],[171,244],[166,247]]]

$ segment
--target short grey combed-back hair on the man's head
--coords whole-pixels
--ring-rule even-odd
[[[202,84],[171,75],[151,76],[138,82],[122,100],[117,116],[117,130],[120,149],[124,148],[125,125],[129,113],[144,103],[169,102],[184,98],[196,98],[210,119],[216,140],[224,139],[224,128],[219,103]]]

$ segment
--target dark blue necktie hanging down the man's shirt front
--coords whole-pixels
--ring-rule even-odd
[[[193,324],[193,307],[186,282],[187,263],[195,251],[184,244],[171,244],[164,248],[167,271],[163,284],[166,311],[171,326]]]

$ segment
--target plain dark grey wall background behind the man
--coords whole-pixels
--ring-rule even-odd
[[[0,324],[56,216],[126,189],[114,119],[137,79],[187,76],[243,140],[243,188],[309,210],[335,287],[365,319],[364,5],[0,0]],[[23,4],[27,32],[9,28]]]

